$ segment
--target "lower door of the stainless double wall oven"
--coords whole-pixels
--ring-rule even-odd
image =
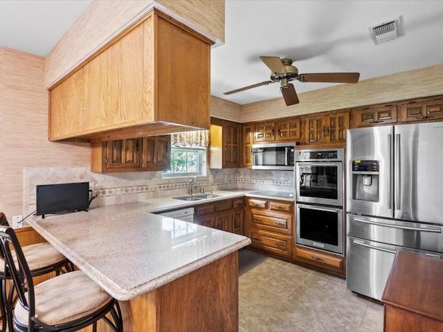
[[[343,255],[343,209],[297,204],[296,242]]]

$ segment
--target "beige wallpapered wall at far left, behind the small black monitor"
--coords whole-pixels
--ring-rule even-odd
[[[24,167],[89,167],[89,144],[48,142],[44,58],[0,47],[0,211],[23,214]]]

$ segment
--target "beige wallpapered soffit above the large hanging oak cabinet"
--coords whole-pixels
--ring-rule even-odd
[[[46,57],[51,86],[159,3],[224,42],[224,0],[94,0]]]

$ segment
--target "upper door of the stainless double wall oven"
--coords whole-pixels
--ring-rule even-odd
[[[343,206],[343,165],[340,162],[296,163],[296,183],[297,202]]]

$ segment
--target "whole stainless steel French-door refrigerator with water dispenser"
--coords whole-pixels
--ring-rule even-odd
[[[397,250],[443,257],[443,122],[347,132],[347,288],[381,299]]]

